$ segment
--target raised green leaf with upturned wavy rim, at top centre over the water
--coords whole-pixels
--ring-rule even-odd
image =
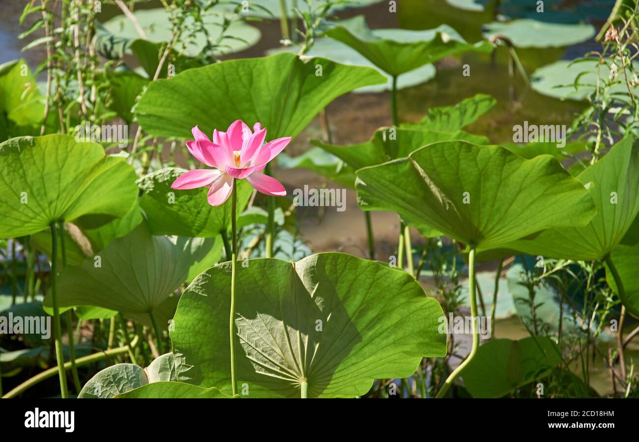
[[[469,50],[491,52],[488,41],[474,45],[466,43],[461,36],[447,25],[427,31],[406,29],[376,29],[371,31],[362,16],[337,23],[326,36],[341,41],[357,50],[371,63],[391,76],[401,75],[428,63],[435,63],[443,57],[461,54]]]

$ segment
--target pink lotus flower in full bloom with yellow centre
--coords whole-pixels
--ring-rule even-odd
[[[282,184],[262,170],[291,142],[291,137],[277,138],[264,144],[266,128],[256,123],[253,131],[242,120],[231,123],[226,132],[213,131],[213,142],[196,127],[195,140],[187,141],[189,152],[201,163],[215,169],[189,170],[171,184],[171,189],[209,188],[208,203],[223,204],[231,195],[235,179],[245,179],[266,195],[284,196]]]

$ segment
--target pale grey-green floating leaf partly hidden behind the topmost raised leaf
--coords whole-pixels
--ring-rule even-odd
[[[282,52],[284,50],[287,52],[293,52],[293,54],[297,54],[298,52],[300,52],[300,45],[291,45],[284,48],[277,48],[276,50],[270,51],[270,53],[274,54],[276,52]],[[364,55],[357,52],[357,50],[351,48],[348,45],[344,45],[344,43],[341,43],[341,41],[333,40],[332,38],[328,37],[318,38],[314,40],[311,49],[306,52],[305,55],[309,57],[322,57],[332,61],[336,61],[337,63],[350,64],[353,66],[366,66],[368,68],[378,70],[382,75],[385,75],[385,77],[387,77],[386,84],[376,84],[360,87],[353,91],[355,93],[377,93],[390,91],[392,89],[392,77],[381,71],[380,68],[366,59]],[[397,89],[405,89],[406,87],[413,87],[418,84],[426,83],[428,80],[431,80],[433,77],[435,77],[435,74],[435,66],[433,66],[432,64],[424,64],[424,66],[420,66],[417,69],[413,69],[412,71],[403,73],[402,75],[397,77]]]

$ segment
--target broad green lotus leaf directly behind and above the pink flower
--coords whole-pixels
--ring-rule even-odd
[[[213,129],[226,130],[231,122],[242,119],[250,126],[261,122],[272,140],[296,136],[334,98],[385,82],[371,68],[300,59],[284,52],[227,60],[152,82],[135,115],[142,128],[155,136],[190,139],[196,124],[212,134]]]

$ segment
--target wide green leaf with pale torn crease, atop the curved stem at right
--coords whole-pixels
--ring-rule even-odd
[[[364,210],[397,212],[477,248],[551,226],[585,225],[595,206],[588,191],[555,158],[523,159],[500,146],[462,141],[431,144],[357,171]]]

